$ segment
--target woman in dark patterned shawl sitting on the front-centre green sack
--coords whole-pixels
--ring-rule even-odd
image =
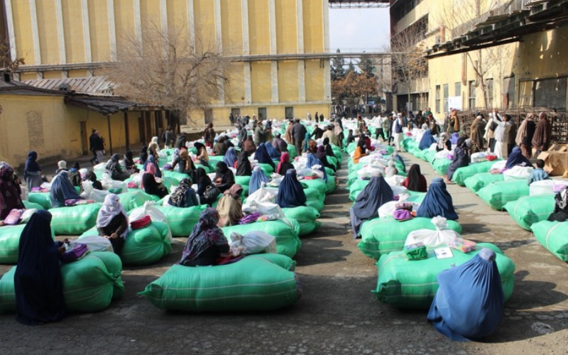
[[[217,224],[219,224],[217,209],[209,207],[201,212],[199,221],[187,238],[180,265],[215,265],[217,258],[229,253],[229,242]]]

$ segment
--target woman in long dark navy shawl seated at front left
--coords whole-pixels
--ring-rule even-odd
[[[40,209],[32,214],[23,228],[13,285],[18,322],[40,325],[65,317],[59,251],[51,236],[48,211]]]

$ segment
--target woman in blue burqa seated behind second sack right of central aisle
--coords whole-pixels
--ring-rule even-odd
[[[446,183],[442,178],[432,179],[430,188],[428,188],[428,192],[426,192],[426,196],[416,212],[416,217],[434,218],[436,216],[452,220],[458,219],[452,196],[446,190]]]

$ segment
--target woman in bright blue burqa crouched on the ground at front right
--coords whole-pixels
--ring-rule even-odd
[[[491,249],[481,249],[470,261],[438,274],[439,288],[427,320],[456,341],[492,334],[503,315],[503,285]]]

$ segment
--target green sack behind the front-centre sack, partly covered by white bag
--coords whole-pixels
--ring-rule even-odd
[[[236,226],[225,226],[223,234],[229,239],[231,233],[246,234],[249,231],[263,231],[276,239],[276,252],[293,258],[300,248],[300,224],[295,219],[278,219],[276,221],[253,222]]]

